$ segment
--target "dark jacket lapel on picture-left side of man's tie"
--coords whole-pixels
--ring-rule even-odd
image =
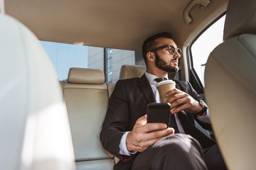
[[[144,96],[146,98],[146,101],[148,103],[156,102],[153,91],[151,89],[151,86],[149,84],[148,79],[146,79],[145,74],[143,74],[143,76],[138,79],[138,86],[139,86],[140,89],[142,89],[143,94],[144,94]]]

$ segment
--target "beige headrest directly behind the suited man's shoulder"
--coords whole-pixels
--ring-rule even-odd
[[[146,67],[139,65],[122,65],[120,69],[119,79],[129,79],[134,77],[142,77],[146,72]]]

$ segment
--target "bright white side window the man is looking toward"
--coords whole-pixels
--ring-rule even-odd
[[[191,45],[192,67],[204,86],[204,72],[210,52],[223,42],[225,16],[213,23]]]

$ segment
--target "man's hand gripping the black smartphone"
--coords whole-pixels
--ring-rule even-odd
[[[174,128],[165,123],[146,123],[146,115],[139,118],[127,135],[126,145],[129,152],[143,152],[162,138],[174,134]]]

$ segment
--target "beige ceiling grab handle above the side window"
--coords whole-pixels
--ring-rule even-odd
[[[191,1],[183,11],[183,17],[184,17],[185,23],[189,24],[193,21],[193,18],[189,15],[189,12],[193,8],[193,6],[201,5],[200,8],[203,9],[206,6],[208,6],[208,4],[210,4],[210,0],[193,0],[193,1]]]

